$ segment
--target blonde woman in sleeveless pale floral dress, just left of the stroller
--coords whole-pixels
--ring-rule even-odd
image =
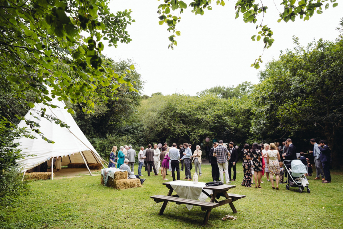
[[[276,150],[274,143],[271,143],[269,145],[269,148],[270,150],[267,151],[267,163],[268,163],[268,170],[270,174],[270,181],[272,182],[272,188],[275,189],[274,179],[273,179],[273,174],[275,174],[276,190],[279,190],[280,154],[279,154],[279,151]]]

